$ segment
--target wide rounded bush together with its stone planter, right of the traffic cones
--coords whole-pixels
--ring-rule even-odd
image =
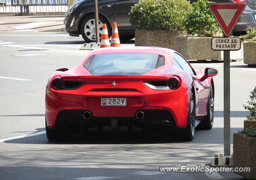
[[[185,30],[185,13],[191,8],[186,0],[140,0],[129,13],[136,28],[135,46],[173,48],[174,37]]]

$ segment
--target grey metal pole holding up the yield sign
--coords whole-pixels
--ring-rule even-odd
[[[230,51],[224,51],[224,156],[230,156]]]

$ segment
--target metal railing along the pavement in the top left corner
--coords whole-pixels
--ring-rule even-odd
[[[66,12],[68,0],[0,0],[0,13]]]

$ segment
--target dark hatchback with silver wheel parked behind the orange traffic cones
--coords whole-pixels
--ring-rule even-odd
[[[108,34],[112,31],[112,22],[117,22],[121,40],[134,38],[135,29],[129,22],[131,6],[138,0],[98,0],[100,37],[103,23],[108,26]],[[95,41],[94,1],[80,0],[68,9],[65,20],[65,30],[70,36],[82,37],[86,42]]]

